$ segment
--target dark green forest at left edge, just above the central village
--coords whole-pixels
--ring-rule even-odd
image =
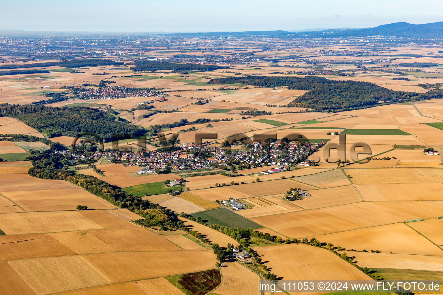
[[[0,104],[0,116],[19,119],[48,137],[58,135],[76,136],[80,132],[95,133],[105,142],[112,140],[112,134],[138,134],[142,128],[124,122],[117,122],[110,113],[89,107],[47,107],[43,105]]]

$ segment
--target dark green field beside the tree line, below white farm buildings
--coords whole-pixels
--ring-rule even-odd
[[[201,217],[208,224],[218,224],[221,226],[229,226],[233,228],[252,228],[256,230],[262,226],[245,218],[232,210],[226,208],[217,208],[206,211],[200,211],[191,214],[195,218]]]

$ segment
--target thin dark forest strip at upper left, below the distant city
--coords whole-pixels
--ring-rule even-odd
[[[121,61],[111,61],[109,59],[93,59],[93,58],[83,58],[83,59],[72,59],[67,61],[48,61],[48,62],[38,62],[32,64],[12,64],[12,65],[0,65],[0,69],[20,69],[20,68],[39,68],[39,67],[51,67],[58,66],[64,68],[80,68],[85,66],[94,65],[124,65]]]

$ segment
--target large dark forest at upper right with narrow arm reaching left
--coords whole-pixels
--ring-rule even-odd
[[[383,88],[373,83],[353,80],[328,80],[323,77],[228,77],[211,79],[210,84],[242,83],[263,87],[289,86],[288,89],[308,90],[296,97],[290,107],[311,108],[315,111],[350,111],[380,105],[380,101],[400,101],[442,98],[443,91],[425,93],[402,92]]]

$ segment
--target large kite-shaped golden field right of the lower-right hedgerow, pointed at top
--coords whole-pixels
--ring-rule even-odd
[[[335,234],[325,234],[315,238],[322,242],[332,243],[335,246],[342,246],[347,251],[350,249],[357,251],[365,249],[367,251],[379,250],[386,253],[443,256],[442,249],[432,244],[408,225],[395,223]]]

